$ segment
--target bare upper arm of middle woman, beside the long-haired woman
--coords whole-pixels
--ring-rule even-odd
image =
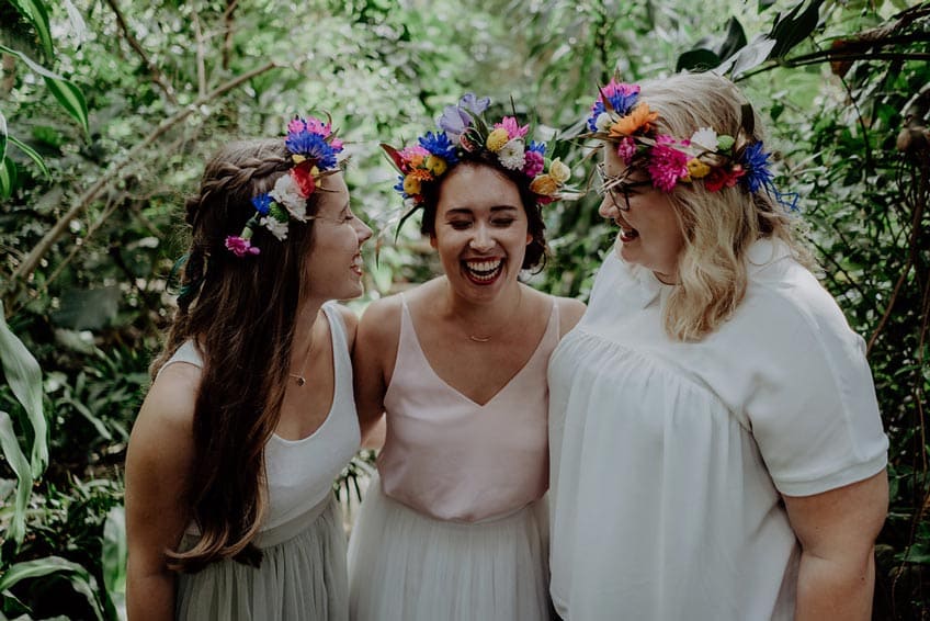
[[[399,330],[400,303],[395,298],[373,303],[359,321],[352,363],[355,407],[365,448],[377,449],[383,443],[384,394],[397,357]]]

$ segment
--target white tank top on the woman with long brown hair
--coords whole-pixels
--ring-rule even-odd
[[[322,309],[332,335],[332,407],[322,425],[306,438],[285,440],[273,434],[265,444],[269,510],[262,532],[285,524],[322,503],[332,492],[332,481],[361,445],[345,326],[334,302],[324,304]],[[159,373],[174,362],[203,368],[203,358],[192,340],[179,347]],[[199,534],[194,524],[188,532]]]

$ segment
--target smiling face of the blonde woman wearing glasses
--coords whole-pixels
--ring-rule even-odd
[[[617,189],[605,195],[598,213],[620,226],[617,255],[630,263],[638,263],[666,283],[678,280],[678,259],[684,248],[684,236],[668,194],[651,184],[643,170],[627,170],[612,144],[604,146],[604,173],[609,178],[626,176],[626,196]],[[622,211],[616,205],[630,205]]]

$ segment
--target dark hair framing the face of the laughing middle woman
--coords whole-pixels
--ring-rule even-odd
[[[484,166],[503,179],[517,185],[520,192],[520,202],[523,204],[523,211],[526,213],[528,230],[532,236],[532,240],[526,246],[526,253],[523,256],[524,270],[537,268],[542,270],[546,260],[546,224],[543,222],[542,210],[536,203],[536,193],[530,190],[532,179],[526,177],[522,170],[509,170],[497,163],[497,154],[492,154],[486,149],[478,149],[476,153],[464,153],[460,157],[460,166]],[[451,172],[451,170],[450,170]],[[420,233],[423,235],[435,235],[435,218],[436,208],[439,206],[439,196],[442,190],[442,184],[445,182],[449,172],[439,179],[438,183],[424,183],[422,190],[423,196],[423,219],[420,223]]]

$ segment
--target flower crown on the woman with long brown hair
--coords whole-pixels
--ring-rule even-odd
[[[342,151],[342,140],[336,137],[331,120],[324,123],[315,116],[291,121],[284,145],[294,167],[275,181],[271,192],[252,199],[256,213],[242,233],[226,238],[226,248],[237,257],[261,252],[252,244],[252,236],[260,228],[284,241],[292,218],[307,222],[307,199],[316,190],[317,180],[336,172],[336,156]]]

